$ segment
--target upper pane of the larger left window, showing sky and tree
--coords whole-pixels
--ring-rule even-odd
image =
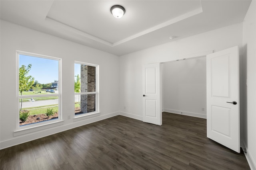
[[[19,95],[58,90],[58,69],[58,60],[19,55]]]

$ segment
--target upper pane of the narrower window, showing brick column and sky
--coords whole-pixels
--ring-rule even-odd
[[[75,92],[96,92],[96,67],[75,64]]]

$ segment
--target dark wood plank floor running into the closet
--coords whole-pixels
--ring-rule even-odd
[[[249,170],[206,137],[206,119],[163,113],[163,125],[116,116],[1,150],[1,170]]]

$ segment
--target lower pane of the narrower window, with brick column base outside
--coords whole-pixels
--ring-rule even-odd
[[[75,115],[96,111],[96,94],[75,95]]]

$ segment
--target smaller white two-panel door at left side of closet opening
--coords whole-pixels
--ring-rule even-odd
[[[144,65],[142,73],[143,121],[162,125],[160,63]]]

